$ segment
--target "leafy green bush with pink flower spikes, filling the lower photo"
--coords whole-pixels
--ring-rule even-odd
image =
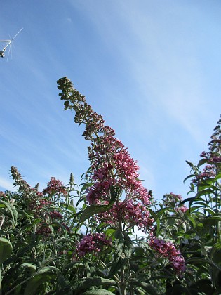
[[[154,200],[138,164],[69,79],[65,110],[85,125],[82,183],[54,177],[39,192],[15,167],[0,192],[0,294],[221,294],[221,120],[190,191]],[[135,237],[139,228],[143,236]]]

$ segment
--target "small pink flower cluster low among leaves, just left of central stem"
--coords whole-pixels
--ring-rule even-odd
[[[80,257],[85,256],[88,253],[99,253],[104,246],[110,246],[112,244],[104,233],[95,233],[86,235],[76,247],[76,254]]]

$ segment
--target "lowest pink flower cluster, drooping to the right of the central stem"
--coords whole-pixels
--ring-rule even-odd
[[[149,246],[163,258],[168,258],[178,274],[183,273],[186,270],[185,259],[172,242],[165,242],[164,240],[159,240],[156,237],[153,237],[149,241]]]

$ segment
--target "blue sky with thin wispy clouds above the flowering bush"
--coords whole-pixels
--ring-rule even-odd
[[[67,76],[140,166],[155,198],[185,197],[220,117],[221,2],[1,0],[0,190],[17,166],[31,185],[88,168],[83,129],[63,111]]]

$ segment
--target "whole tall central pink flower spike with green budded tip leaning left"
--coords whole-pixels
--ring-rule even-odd
[[[83,136],[91,141],[91,147],[88,147],[91,169],[87,179],[91,187],[86,190],[87,203],[109,204],[113,197],[112,187],[118,188],[125,201],[120,202],[120,196],[117,196],[117,205],[114,204],[110,211],[100,214],[100,221],[102,217],[104,220],[112,220],[109,218],[109,214],[112,214],[115,216],[114,223],[121,224],[122,221],[124,225],[138,225],[139,228],[149,226],[149,212],[145,206],[151,204],[152,196],[139,180],[137,162],[130,157],[123,143],[114,137],[114,129],[105,126],[103,117],[93,111],[67,77],[58,80],[58,89],[62,90],[59,96],[65,100],[65,110],[74,110],[74,122],[86,125]]]

